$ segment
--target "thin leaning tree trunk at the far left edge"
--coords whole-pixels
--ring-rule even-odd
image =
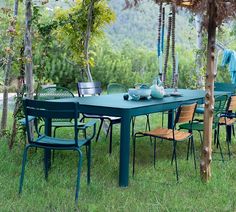
[[[11,21],[9,25],[9,33],[11,34],[10,41],[9,41],[9,46],[8,48],[10,49],[9,55],[8,55],[8,60],[6,64],[6,69],[5,69],[5,76],[4,76],[4,88],[3,88],[3,107],[2,107],[2,118],[1,118],[1,134],[4,133],[7,127],[7,116],[8,116],[8,88],[10,85],[10,72],[11,72],[11,64],[12,64],[12,52],[11,50],[13,49],[13,43],[14,43],[14,32],[15,32],[15,26],[16,26],[16,19],[18,15],[18,0],[15,0],[14,3],[14,18]],[[11,30],[11,31],[10,31]]]

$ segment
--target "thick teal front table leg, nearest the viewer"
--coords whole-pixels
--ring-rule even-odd
[[[121,119],[119,172],[120,187],[127,187],[129,184],[130,120],[131,118],[128,116],[122,117]]]

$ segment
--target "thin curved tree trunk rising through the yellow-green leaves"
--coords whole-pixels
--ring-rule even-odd
[[[84,55],[86,60],[86,74],[89,81],[93,81],[91,71],[90,71],[90,65],[89,65],[89,40],[91,35],[91,28],[93,24],[93,9],[94,9],[94,3],[96,0],[91,0],[88,8],[88,18],[87,18],[87,29],[85,34],[85,41],[84,41]]]

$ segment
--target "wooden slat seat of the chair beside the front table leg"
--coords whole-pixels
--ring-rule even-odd
[[[175,140],[176,141],[182,141],[182,140],[185,140],[191,136],[190,133],[179,131],[179,130],[175,130],[174,133],[175,133]],[[148,135],[148,136],[163,138],[163,139],[167,139],[167,140],[174,140],[173,130],[167,129],[167,128],[157,128],[157,129],[151,130],[149,132],[145,132],[143,134]]]

